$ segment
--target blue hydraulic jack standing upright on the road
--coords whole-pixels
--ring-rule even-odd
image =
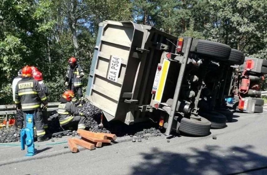
[[[28,146],[28,153],[25,156],[33,156],[36,154],[34,149],[34,114],[26,114],[26,127],[20,131],[21,150],[25,150],[25,144]]]

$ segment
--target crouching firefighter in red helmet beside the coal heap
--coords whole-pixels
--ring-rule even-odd
[[[71,90],[67,90],[60,98],[58,105],[59,123],[63,128],[77,127],[78,129],[85,129],[85,117],[83,113],[79,112],[77,108],[70,102],[74,97]]]

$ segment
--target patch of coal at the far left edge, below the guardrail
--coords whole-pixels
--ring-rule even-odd
[[[0,143],[20,141],[20,130],[16,131],[15,126],[2,128],[0,130]]]

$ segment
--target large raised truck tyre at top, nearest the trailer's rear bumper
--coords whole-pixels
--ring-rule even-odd
[[[231,53],[231,47],[214,41],[198,40],[195,52],[211,59],[227,61]]]

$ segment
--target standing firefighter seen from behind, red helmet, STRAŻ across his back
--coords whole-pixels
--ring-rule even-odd
[[[22,79],[18,81],[15,90],[15,103],[17,110],[22,110],[24,113],[24,127],[26,126],[26,113],[34,114],[37,141],[49,140],[45,135],[41,111],[41,103],[47,107],[47,98],[40,84],[32,77],[30,66],[22,69]]]

